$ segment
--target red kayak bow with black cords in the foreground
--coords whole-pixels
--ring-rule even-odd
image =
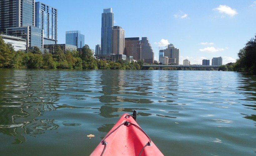
[[[149,156],[163,155],[150,137],[136,123],[133,115],[125,113],[106,134],[91,156]]]

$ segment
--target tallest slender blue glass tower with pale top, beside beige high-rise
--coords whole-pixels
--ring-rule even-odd
[[[114,13],[112,8],[103,9],[101,14],[101,55],[111,54]]]

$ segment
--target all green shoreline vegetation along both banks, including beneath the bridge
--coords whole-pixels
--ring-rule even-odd
[[[219,71],[238,71],[249,75],[256,75],[256,36],[248,41],[243,49],[238,52],[235,63],[228,63],[219,67]],[[93,57],[88,45],[83,46],[81,52],[67,51],[64,53],[60,46],[51,54],[42,54],[38,47],[33,51],[14,51],[11,44],[6,44],[0,37],[0,68],[18,69],[121,69],[121,70],[155,70],[156,68],[142,68],[143,60],[136,62],[117,60],[104,61]],[[163,70],[182,70],[166,67]],[[194,70],[188,68],[187,70]],[[204,70],[204,69],[199,69]],[[211,69],[214,70],[214,69]]]

